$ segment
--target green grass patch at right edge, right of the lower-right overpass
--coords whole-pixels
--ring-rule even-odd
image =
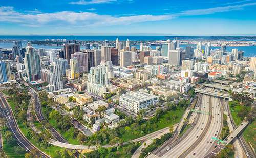
[[[253,121],[251,124],[249,124],[245,128],[243,134],[244,134],[244,138],[245,138],[246,142],[247,143],[250,142],[250,144],[256,151],[256,120]],[[249,145],[249,143],[248,143],[248,145]]]

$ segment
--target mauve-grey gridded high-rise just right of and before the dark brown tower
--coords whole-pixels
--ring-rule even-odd
[[[72,58],[77,58],[79,73],[88,72],[88,57],[87,53],[76,52],[75,54],[71,54]]]

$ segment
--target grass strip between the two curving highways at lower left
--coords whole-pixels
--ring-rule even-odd
[[[58,158],[58,157],[59,157],[59,155],[56,155],[56,154],[54,153],[54,151],[56,151],[56,150],[61,150],[61,147],[53,146],[53,145],[49,144],[49,149],[45,149],[45,150],[44,150],[44,149],[42,149],[41,147],[39,147],[39,146],[36,144],[36,142],[35,142],[34,140],[32,140],[32,139],[30,139],[30,138],[27,137],[27,136],[28,136],[28,131],[24,128],[24,126],[23,126],[22,123],[18,122],[18,126],[19,126],[20,130],[23,132],[24,136],[25,136],[34,146],[36,146],[39,150],[41,150],[42,152],[45,152],[46,154],[49,155],[49,149],[50,149],[51,157],[53,157],[53,158]],[[69,156],[69,157],[70,157],[70,156]]]

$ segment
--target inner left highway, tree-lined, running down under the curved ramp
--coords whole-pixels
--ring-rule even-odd
[[[39,122],[41,122],[42,120],[47,120],[46,117],[44,116],[44,113],[42,112],[41,102],[39,102],[38,94],[33,93],[33,95],[34,95],[34,108],[35,108],[35,111],[36,111],[37,119],[39,120]],[[50,129],[50,132],[51,132],[52,136],[55,139],[57,139],[58,141],[66,143],[66,144],[70,144],[64,137],[61,136],[61,134],[53,126]],[[66,145],[66,147],[68,147],[68,145]],[[68,150],[73,150],[73,149],[68,149]],[[78,158],[79,153],[76,152],[74,154],[74,156]]]

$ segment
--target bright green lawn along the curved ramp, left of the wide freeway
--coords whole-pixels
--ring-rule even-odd
[[[163,129],[165,127],[169,127],[172,124],[179,123],[184,111],[185,110],[183,110],[181,107],[177,107],[177,109],[175,111],[174,110],[168,111],[167,114],[165,114],[159,118],[159,121],[157,123],[154,123],[154,124],[157,124],[158,127],[152,128],[152,130],[150,130],[150,133],[155,132],[160,129]],[[177,114],[177,118],[175,120],[170,120],[170,119],[166,120],[165,119],[166,116],[170,117],[170,116],[173,116],[173,114]],[[149,125],[148,121],[144,122],[142,124]],[[124,134],[119,135],[118,137],[123,139],[124,142],[127,142],[129,140],[134,140],[136,138],[139,138],[139,137],[142,137],[142,136],[145,136],[146,134],[148,134],[148,131],[143,131],[144,133],[141,133],[141,132],[136,133],[133,129],[131,131],[127,132],[127,131],[125,131],[125,127],[120,130],[123,130]]]

